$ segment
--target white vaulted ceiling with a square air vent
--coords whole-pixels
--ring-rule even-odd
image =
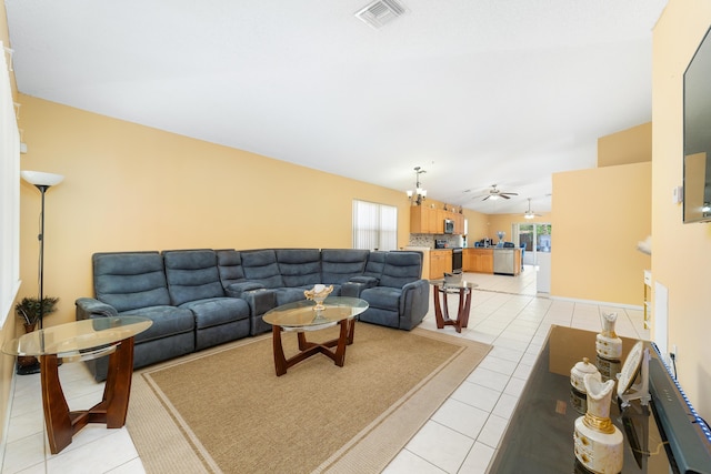
[[[651,120],[667,0],[400,1],[379,30],[370,0],[4,3],[26,94],[402,191],[422,167],[485,213],[550,211],[551,173]]]

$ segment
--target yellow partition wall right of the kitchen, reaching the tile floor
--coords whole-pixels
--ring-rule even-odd
[[[639,306],[650,258],[650,162],[553,174],[551,295]]]

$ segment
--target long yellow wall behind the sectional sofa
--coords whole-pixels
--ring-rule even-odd
[[[63,174],[46,198],[44,293],[54,325],[93,294],[91,254],[190,248],[351,248],[353,199],[399,208],[407,195],[240,150],[20,94],[23,170]],[[338,157],[333,157],[338,159]],[[37,291],[40,194],[21,185],[21,293]]]

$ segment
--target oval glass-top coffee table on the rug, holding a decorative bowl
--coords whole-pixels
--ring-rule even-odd
[[[343,366],[346,346],[353,343],[356,316],[368,309],[368,302],[358,297],[330,296],[323,305],[323,310],[316,310],[316,302],[303,300],[277,306],[264,313],[263,321],[272,325],[274,369],[278,376],[314,354],[323,354],[333,360],[339,367]],[[319,331],[337,324],[341,325],[337,339],[322,343],[307,341],[304,332]],[[300,352],[289,359],[286,357],[281,343],[282,331],[298,333]],[[332,347],[336,347],[336,351]]]

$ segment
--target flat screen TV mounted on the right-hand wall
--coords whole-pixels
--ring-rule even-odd
[[[684,72],[683,222],[711,221],[711,29]]]

